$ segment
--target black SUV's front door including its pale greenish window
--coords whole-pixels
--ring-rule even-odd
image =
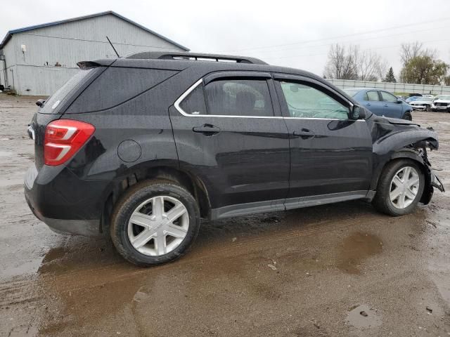
[[[289,75],[275,78],[290,133],[291,200],[286,207],[290,202],[292,207],[301,206],[309,199],[364,197],[372,176],[366,121],[349,119],[351,103],[319,81]]]

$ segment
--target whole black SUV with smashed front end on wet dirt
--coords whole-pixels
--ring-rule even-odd
[[[37,102],[25,197],[52,230],[108,233],[132,263],[181,256],[200,218],[354,199],[401,216],[444,190],[434,131],[309,72],[193,53],[78,65]]]

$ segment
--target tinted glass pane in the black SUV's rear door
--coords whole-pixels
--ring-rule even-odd
[[[265,80],[226,79],[205,86],[208,114],[272,117],[274,111]]]

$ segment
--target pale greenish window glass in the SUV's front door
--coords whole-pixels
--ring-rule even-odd
[[[281,81],[290,117],[348,119],[349,108],[307,84]]]

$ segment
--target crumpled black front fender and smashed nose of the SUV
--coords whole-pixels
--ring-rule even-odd
[[[428,150],[437,150],[439,140],[432,127],[421,128],[413,121],[372,116],[371,133],[375,154],[372,187],[376,188],[385,165],[394,159],[411,159],[419,164],[425,177],[425,186],[420,202],[428,204],[434,187],[444,192],[444,185],[435,175],[428,159]]]

